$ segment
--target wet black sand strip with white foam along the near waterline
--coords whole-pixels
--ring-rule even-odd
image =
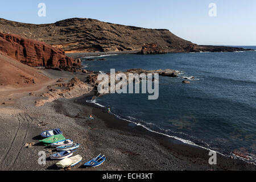
[[[208,148],[197,146],[196,144],[189,144],[193,143],[190,141],[189,143],[184,143],[182,141],[183,139],[168,136],[156,131],[151,131],[142,125],[136,125],[135,123],[127,121],[126,119],[117,118],[114,114],[108,114],[106,112],[106,107],[103,108],[90,102],[86,102],[85,105],[93,107],[93,114],[100,117],[102,121],[108,125],[108,127],[122,132],[133,133],[142,138],[147,137],[148,139],[150,138],[155,140],[160,146],[165,147],[168,152],[170,152],[176,158],[188,161],[191,160],[193,163],[208,167],[209,170],[213,166],[217,167],[218,170],[250,170],[250,165],[252,168],[256,167],[255,164],[248,163],[242,158],[235,159],[234,156],[227,156],[219,152],[216,152],[218,161],[217,165],[210,165],[208,164],[208,160],[210,158],[209,151],[212,150]],[[192,170],[197,169],[195,168]]]

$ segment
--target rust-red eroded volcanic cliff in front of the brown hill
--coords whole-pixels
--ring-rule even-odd
[[[0,51],[31,67],[46,67],[74,71],[81,67],[80,60],[65,56],[63,49],[44,42],[0,32]]]

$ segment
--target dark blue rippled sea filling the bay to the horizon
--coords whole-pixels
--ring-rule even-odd
[[[240,46],[237,46],[240,47]],[[256,46],[243,48],[256,49]],[[102,58],[103,56],[101,56]],[[233,150],[256,161],[256,51],[105,55],[86,61],[101,72],[130,68],[175,69],[177,78],[159,76],[159,97],[114,93],[93,101],[146,129],[223,155]],[[183,77],[193,76],[190,84]],[[91,101],[85,101],[91,102]]]

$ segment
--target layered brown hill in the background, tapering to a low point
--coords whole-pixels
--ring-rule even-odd
[[[154,43],[167,52],[241,51],[239,48],[202,47],[165,29],[148,29],[71,18],[51,24],[28,24],[0,19],[0,32],[18,34],[70,52],[141,51]]]

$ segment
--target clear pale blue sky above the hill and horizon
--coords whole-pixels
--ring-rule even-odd
[[[24,23],[54,23],[93,18],[144,28],[165,28],[201,45],[255,46],[255,0],[0,0],[0,18]],[[38,16],[45,3],[46,16]],[[209,7],[216,5],[216,11]],[[216,16],[209,16],[216,12]]]

